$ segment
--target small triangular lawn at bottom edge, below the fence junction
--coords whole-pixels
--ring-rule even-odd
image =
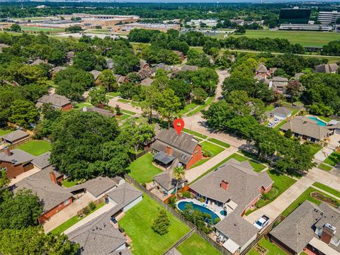
[[[217,251],[217,249],[212,247],[207,241],[205,241],[205,239],[203,239],[196,233],[186,239],[186,241],[181,243],[176,249],[181,252],[182,255],[221,254],[220,251]]]

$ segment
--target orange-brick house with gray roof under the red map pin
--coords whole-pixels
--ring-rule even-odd
[[[156,138],[151,145],[154,162],[164,169],[173,169],[181,164],[190,169],[203,157],[202,147],[193,135],[181,132],[177,134],[174,128],[156,128]]]

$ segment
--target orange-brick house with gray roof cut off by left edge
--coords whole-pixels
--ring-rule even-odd
[[[8,179],[16,178],[19,174],[33,169],[31,161],[35,158],[32,154],[21,149],[5,148],[0,152],[0,170],[4,170]]]

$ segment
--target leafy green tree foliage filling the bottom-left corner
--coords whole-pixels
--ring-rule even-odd
[[[65,234],[45,234],[42,227],[4,229],[0,231],[0,252],[10,254],[73,255],[79,244],[69,242]]]

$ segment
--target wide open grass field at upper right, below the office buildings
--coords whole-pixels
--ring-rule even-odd
[[[223,38],[223,34],[217,35],[217,38]],[[246,36],[248,38],[280,38],[287,39],[291,43],[300,43],[306,47],[322,47],[328,42],[339,40],[339,33],[336,32],[318,32],[318,31],[285,31],[285,30],[246,30],[244,35],[230,35],[234,37]]]

